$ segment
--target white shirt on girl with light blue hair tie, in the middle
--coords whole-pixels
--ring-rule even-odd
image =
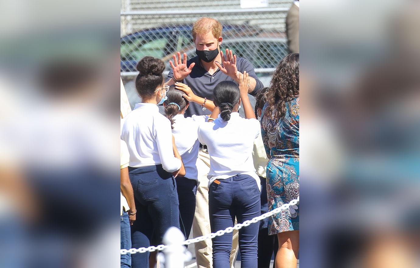
[[[178,114],[173,117],[172,134],[175,137],[176,148],[181,155],[185,167],[185,178],[198,181],[197,158],[200,143],[198,142],[197,130],[201,123],[207,122],[208,116],[196,116],[185,118]]]

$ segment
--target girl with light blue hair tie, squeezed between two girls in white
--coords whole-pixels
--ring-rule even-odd
[[[188,239],[195,213],[195,196],[197,194],[197,158],[199,142],[197,136],[198,126],[208,120],[208,116],[184,117],[189,102],[196,102],[203,108],[213,111],[211,100],[194,95],[192,90],[183,83],[175,83],[166,93],[168,100],[163,102],[165,116],[171,120],[172,134],[175,144],[181,155],[185,167],[185,176],[176,177],[176,186],[179,200],[179,215],[181,231]]]

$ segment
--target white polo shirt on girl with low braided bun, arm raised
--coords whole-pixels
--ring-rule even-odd
[[[260,131],[257,119],[245,119],[239,113],[231,113],[227,122],[219,115],[215,121],[199,126],[198,140],[207,145],[210,155],[209,187],[215,179],[228,179],[238,174],[252,176],[259,184],[252,150]]]

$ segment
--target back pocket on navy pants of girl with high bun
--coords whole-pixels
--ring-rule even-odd
[[[137,194],[140,200],[154,201],[159,199],[159,175],[157,173],[139,174],[134,178],[138,181]]]

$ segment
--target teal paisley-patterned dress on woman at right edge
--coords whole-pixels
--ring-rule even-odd
[[[261,118],[261,133],[268,156],[268,210],[274,210],[299,196],[299,98],[286,103],[286,115],[280,120]],[[299,208],[268,218],[268,234],[299,230]]]

